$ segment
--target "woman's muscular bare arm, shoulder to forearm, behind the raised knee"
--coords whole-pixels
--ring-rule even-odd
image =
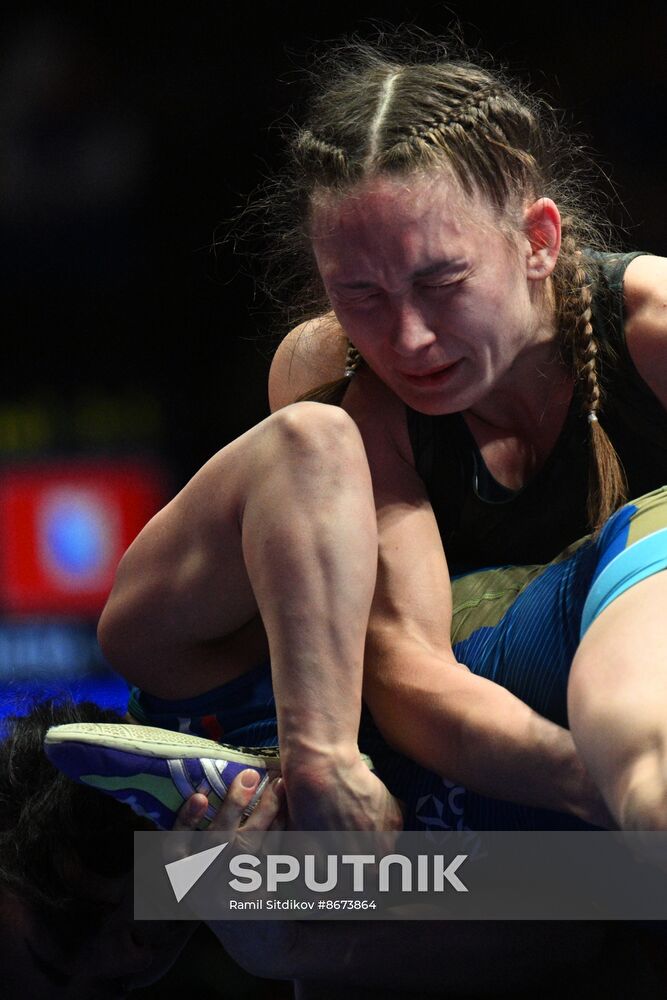
[[[317,340],[311,325],[283,345],[273,371],[274,405],[308,388]],[[341,343],[342,335],[329,348],[332,357],[344,357]],[[364,440],[377,509],[364,697],[382,734],[429,770],[484,794],[588,816],[597,797],[570,733],[454,658],[447,563],[412,462],[403,404],[365,372],[350,386],[345,409]]]

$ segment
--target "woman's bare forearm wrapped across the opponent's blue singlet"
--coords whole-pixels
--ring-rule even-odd
[[[597,810],[569,731],[453,658],[396,648],[368,665],[365,697],[387,742],[443,777],[585,818]]]

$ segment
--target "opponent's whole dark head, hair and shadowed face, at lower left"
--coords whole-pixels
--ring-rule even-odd
[[[135,923],[126,807],[48,761],[52,725],[117,722],[92,704],[45,702],[8,720],[0,743],[0,967],[3,996],[121,997],[153,982],[184,943],[178,924]]]

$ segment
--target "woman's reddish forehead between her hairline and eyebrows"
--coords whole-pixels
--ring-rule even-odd
[[[462,254],[499,232],[495,211],[466,195],[445,172],[369,178],[343,193],[313,197],[313,249],[326,272],[354,256],[407,256],[411,263],[444,252]]]

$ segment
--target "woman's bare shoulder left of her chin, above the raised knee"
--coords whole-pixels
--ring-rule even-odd
[[[308,320],[280,342],[269,373],[269,403],[279,410],[305,392],[341,378],[347,338],[333,313]]]

